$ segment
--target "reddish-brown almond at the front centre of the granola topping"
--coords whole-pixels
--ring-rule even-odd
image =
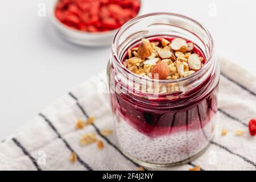
[[[168,64],[162,61],[156,64],[151,69],[151,75],[153,79],[156,79],[158,77],[159,80],[164,80],[167,78],[169,73],[170,73],[170,68],[168,67]]]

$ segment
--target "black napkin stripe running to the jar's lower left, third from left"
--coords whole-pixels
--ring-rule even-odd
[[[79,106],[80,110],[82,111],[82,113],[85,115],[86,118],[89,118],[89,115],[86,113],[86,111],[84,110],[84,108],[79,104],[78,99],[76,96],[74,96],[71,92],[68,93],[69,96],[71,96],[73,99],[76,100],[76,104],[77,106]],[[127,158],[127,156],[125,154],[123,154],[123,152],[121,150],[119,150],[119,148],[117,146],[115,146],[115,144],[113,144],[112,142],[110,142],[110,140],[108,138],[106,138],[104,135],[101,134],[100,130],[98,129],[98,127],[96,125],[94,125],[92,123],[92,126],[94,127],[94,129],[96,130],[97,134],[100,135],[102,138],[104,138],[106,140],[106,142],[108,144],[110,144],[110,146],[114,147],[115,150],[117,150],[124,158],[126,158],[127,160],[129,160],[131,163],[133,163],[135,166],[140,167],[139,164],[135,163],[133,160]]]

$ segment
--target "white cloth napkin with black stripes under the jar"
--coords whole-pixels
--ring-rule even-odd
[[[216,135],[203,155],[191,163],[167,168],[188,170],[255,170],[256,137],[251,137],[247,123],[256,117],[256,78],[230,61],[219,57],[221,81]],[[105,75],[93,77],[63,96],[25,126],[0,143],[2,170],[138,170],[117,147],[115,135],[102,135],[114,129]],[[77,119],[95,117],[92,125],[76,130]],[[221,135],[226,129],[226,136]],[[246,131],[237,136],[236,131]],[[96,143],[80,145],[85,133],[95,133],[104,148]],[[71,163],[71,154],[77,161]],[[149,168],[146,168],[150,170]]]

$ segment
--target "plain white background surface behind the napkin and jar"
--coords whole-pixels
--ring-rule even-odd
[[[0,139],[105,71],[110,47],[80,47],[61,39],[48,17],[38,16],[39,3],[49,1],[8,0],[0,6]],[[166,11],[198,20],[212,33],[218,54],[256,75],[255,7],[251,0],[144,0],[142,14]]]

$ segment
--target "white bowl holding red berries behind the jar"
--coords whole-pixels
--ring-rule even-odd
[[[118,29],[107,32],[83,32],[75,30],[61,23],[55,16],[56,4],[59,0],[52,0],[49,4],[49,18],[59,31],[60,35],[69,42],[79,44],[81,46],[100,47],[109,46],[112,43],[115,33]],[[141,9],[139,10],[139,12]],[[138,13],[139,14],[139,13]]]

